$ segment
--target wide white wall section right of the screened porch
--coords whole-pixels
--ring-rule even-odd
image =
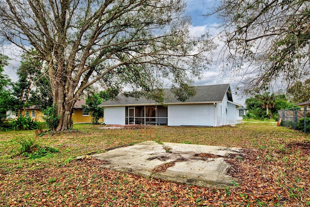
[[[168,126],[215,126],[213,104],[168,105]]]

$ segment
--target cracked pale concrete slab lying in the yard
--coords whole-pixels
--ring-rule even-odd
[[[204,187],[231,185],[233,177],[226,175],[229,155],[241,155],[242,148],[142,142],[92,155],[104,160],[102,167],[130,172],[143,177],[155,177],[176,183]]]

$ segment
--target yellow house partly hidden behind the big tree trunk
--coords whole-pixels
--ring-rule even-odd
[[[82,109],[82,105],[85,104],[85,100],[78,100],[72,110],[72,120],[74,124],[78,123],[91,123],[92,122],[92,116],[88,111],[85,111]],[[36,121],[44,121],[43,116],[44,114],[42,113],[41,108],[38,108],[36,106],[31,106],[29,108],[26,108],[26,110],[23,110],[22,115],[31,117],[32,120]],[[17,113],[16,113],[17,116]],[[17,117],[16,117],[17,118]],[[103,122],[104,118],[100,118],[99,122]]]

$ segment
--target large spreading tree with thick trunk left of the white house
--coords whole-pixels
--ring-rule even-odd
[[[100,82],[148,94],[167,80],[185,86],[209,63],[213,44],[189,34],[182,0],[0,0],[0,35],[47,65],[56,131],[74,103]],[[140,93],[141,94],[141,93]],[[154,96],[156,97],[156,95]]]

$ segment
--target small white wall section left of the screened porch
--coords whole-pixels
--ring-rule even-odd
[[[105,124],[125,125],[125,106],[105,107]]]

